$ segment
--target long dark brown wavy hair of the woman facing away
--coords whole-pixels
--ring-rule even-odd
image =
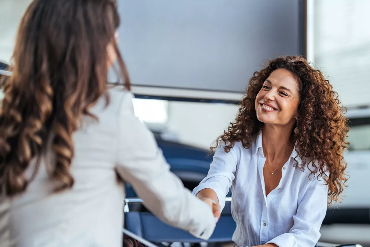
[[[118,57],[120,78],[129,78],[115,41],[120,25],[115,0],[34,0],[24,14],[13,53],[13,75],[4,81],[0,108],[0,191],[26,190],[25,170],[51,143],[50,177],[60,191],[73,186],[72,134],[81,117],[107,93],[108,54]],[[39,162],[37,162],[39,163]],[[36,174],[38,166],[34,171]]]

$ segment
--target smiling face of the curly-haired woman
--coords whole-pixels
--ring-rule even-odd
[[[257,94],[257,119],[265,124],[293,126],[298,117],[298,105],[298,84],[293,74],[286,69],[274,70]]]

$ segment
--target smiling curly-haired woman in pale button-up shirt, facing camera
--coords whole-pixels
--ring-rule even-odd
[[[320,70],[301,57],[270,60],[249,80],[235,121],[212,147],[208,176],[193,193],[223,208],[231,187],[238,246],[312,247],[327,203],[340,200],[347,180],[348,131]]]

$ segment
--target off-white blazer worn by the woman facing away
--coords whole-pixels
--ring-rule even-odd
[[[99,121],[84,117],[73,134],[73,188],[51,192],[55,184],[45,168],[53,164],[49,149],[25,193],[0,197],[1,247],[122,246],[125,190],[118,177],[130,183],[161,220],[196,237],[211,236],[211,209],[169,171],[152,133],[134,116],[132,94],[117,87],[110,95],[107,108],[101,99],[91,109]]]

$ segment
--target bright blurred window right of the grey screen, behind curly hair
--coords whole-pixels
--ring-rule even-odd
[[[370,1],[314,0],[313,5],[313,13],[307,14],[313,26],[307,26],[310,60],[333,84],[344,106],[370,105]]]

